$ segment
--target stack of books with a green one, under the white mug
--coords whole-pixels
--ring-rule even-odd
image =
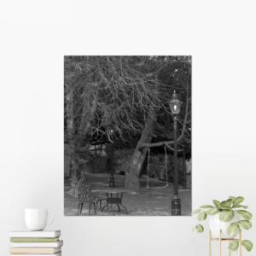
[[[9,232],[13,247],[9,253],[22,256],[54,254],[61,256],[63,241],[61,231],[12,231]]]

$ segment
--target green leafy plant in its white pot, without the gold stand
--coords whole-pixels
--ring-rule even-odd
[[[252,223],[250,220],[253,218],[253,214],[241,209],[247,209],[247,207],[241,205],[242,201],[244,201],[242,196],[230,196],[227,201],[219,202],[217,200],[212,200],[214,207],[205,205],[200,207],[200,209],[196,209],[191,213],[191,215],[198,214],[197,220],[199,221],[199,224],[195,226],[192,232],[196,230],[197,236],[198,233],[202,233],[204,231],[204,228],[200,223],[207,219],[207,216],[209,216],[212,235],[216,238],[219,238],[219,230],[221,230],[221,238],[232,239],[237,236],[240,229],[251,229]],[[193,240],[195,240],[195,238]],[[243,240],[241,241],[241,245],[245,247],[248,252],[253,249],[252,241]],[[238,241],[231,241],[228,246],[231,252],[237,251],[238,247]]]

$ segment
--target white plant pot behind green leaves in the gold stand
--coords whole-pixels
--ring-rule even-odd
[[[221,230],[221,238],[222,239],[232,239],[235,236],[237,236],[239,233],[239,230],[236,232],[236,234],[234,236],[229,236],[227,234],[226,230],[228,229],[228,227],[231,223],[237,222],[237,218],[238,218],[238,220],[241,220],[242,218],[238,214],[237,214],[237,218],[236,218],[236,214],[235,214],[235,217],[233,219],[231,219],[229,222],[222,222],[218,218],[219,213],[220,212],[218,212],[215,215],[208,215],[209,226],[210,226],[210,230],[212,231],[212,238],[219,238],[219,230]]]

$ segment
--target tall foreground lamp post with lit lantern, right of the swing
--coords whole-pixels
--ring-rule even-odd
[[[177,99],[176,91],[173,91],[172,99],[169,102],[169,106],[172,111],[173,116],[173,128],[174,128],[174,193],[172,197],[172,215],[181,215],[181,201],[178,197],[178,188],[177,188],[177,115],[181,108],[181,102]]]

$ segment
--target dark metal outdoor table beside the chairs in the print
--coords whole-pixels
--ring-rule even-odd
[[[122,189],[102,189],[101,193],[106,193],[107,195],[107,205],[102,208],[102,212],[105,207],[108,207],[108,211],[109,211],[109,205],[110,205],[110,209],[112,205],[117,205],[118,207],[120,205],[125,209],[126,214],[128,214],[126,208],[122,203],[123,194],[127,192],[128,190],[122,190]],[[120,207],[119,207],[119,212],[120,212]]]

